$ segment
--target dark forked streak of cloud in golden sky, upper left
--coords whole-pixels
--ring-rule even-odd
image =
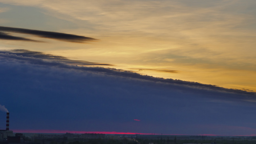
[[[39,30],[31,30],[31,29],[24,29],[24,28],[4,27],[4,26],[0,26],[0,31],[30,34],[30,35],[35,35],[35,36],[44,37],[44,38],[51,38],[51,39],[67,41],[67,42],[76,42],[76,43],[84,43],[86,41],[97,40],[97,39],[91,38],[91,37],[77,36],[77,35],[72,35],[72,34],[49,32],[49,31],[39,31]],[[1,33],[0,38],[1,39],[12,39],[12,40],[34,41],[34,40],[23,38],[23,37],[9,36],[4,33]]]

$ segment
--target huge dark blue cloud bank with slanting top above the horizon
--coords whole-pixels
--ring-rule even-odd
[[[24,54],[22,54],[24,52]],[[0,103],[11,129],[249,135],[256,94],[0,52]],[[15,53],[15,54],[14,54]],[[0,113],[1,123],[5,113]],[[136,121],[140,120],[140,121]],[[4,129],[2,124],[0,129]]]

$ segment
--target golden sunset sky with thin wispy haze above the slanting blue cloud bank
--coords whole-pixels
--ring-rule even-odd
[[[156,77],[256,90],[255,0],[0,0],[0,26],[87,36],[0,40]]]

